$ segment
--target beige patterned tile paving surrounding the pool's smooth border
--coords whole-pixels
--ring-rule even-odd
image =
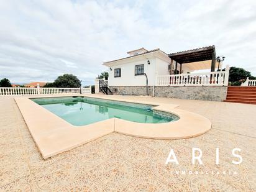
[[[178,109],[207,117],[212,129],[181,140],[112,133],[43,160],[14,98],[0,97],[0,191],[256,191],[256,105],[99,97],[178,104]],[[203,165],[192,165],[192,147],[203,151]],[[215,165],[216,147],[219,165]],[[232,163],[237,160],[232,156],[234,148],[242,150],[240,165]],[[179,165],[165,165],[170,149],[175,151]],[[176,175],[175,171],[193,174]],[[224,175],[222,171],[237,174]]]

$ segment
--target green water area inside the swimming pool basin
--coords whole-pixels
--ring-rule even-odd
[[[113,117],[133,122],[163,123],[178,117],[152,110],[150,105],[86,97],[36,98],[35,103],[65,119],[73,126],[85,126]]]

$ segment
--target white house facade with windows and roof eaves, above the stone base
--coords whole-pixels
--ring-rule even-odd
[[[168,66],[171,59],[160,49],[130,55],[130,57],[105,62],[109,68],[109,86],[145,86],[155,85],[156,75],[169,75]],[[120,71],[120,73],[119,73]],[[115,75],[116,73],[116,75]]]

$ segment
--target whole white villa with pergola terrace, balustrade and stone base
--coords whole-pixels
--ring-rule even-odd
[[[168,98],[226,99],[229,68],[216,61],[214,46],[167,54],[159,48],[139,48],[127,52],[129,57],[104,62],[109,79],[100,80],[99,89],[106,94],[152,95]],[[195,73],[198,70],[209,70]]]

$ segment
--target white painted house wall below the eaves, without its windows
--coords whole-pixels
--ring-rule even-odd
[[[150,65],[147,61],[150,61]],[[168,62],[157,57],[142,58],[135,62],[121,65],[109,66],[109,86],[145,86],[146,77],[144,75],[135,76],[135,65],[144,64],[144,73],[149,79],[149,86],[155,85],[155,75],[168,75]],[[110,67],[112,70],[110,70]],[[121,68],[121,77],[114,77],[114,69]]]

